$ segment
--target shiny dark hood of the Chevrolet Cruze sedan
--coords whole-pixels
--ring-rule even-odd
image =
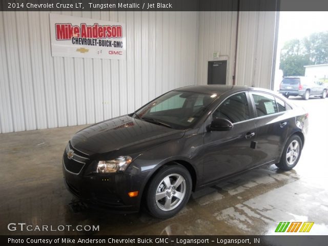
[[[181,138],[184,133],[184,130],[171,129],[125,115],[77,132],[71,138],[71,145],[89,155],[112,151],[129,154]]]

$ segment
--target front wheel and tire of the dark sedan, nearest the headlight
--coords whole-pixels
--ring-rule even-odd
[[[192,179],[180,165],[163,166],[148,187],[146,201],[149,213],[160,219],[176,215],[189,200]]]

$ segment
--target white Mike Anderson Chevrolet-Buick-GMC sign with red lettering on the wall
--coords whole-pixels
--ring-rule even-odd
[[[50,14],[52,56],[126,59],[125,24]]]

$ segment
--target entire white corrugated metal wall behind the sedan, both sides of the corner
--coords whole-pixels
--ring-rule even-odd
[[[56,12],[58,13],[58,12]],[[232,84],[237,12],[63,12],[126,23],[127,60],[52,57],[48,12],[0,12],[0,132],[91,124],[171,89]],[[276,12],[239,12],[236,84],[270,88]]]

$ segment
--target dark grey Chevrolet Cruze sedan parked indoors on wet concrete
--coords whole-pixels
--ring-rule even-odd
[[[307,129],[308,114],[269,90],[179,88],[77,132],[64,152],[65,183],[87,203],[168,218],[220,179],[263,164],[291,170]]]

